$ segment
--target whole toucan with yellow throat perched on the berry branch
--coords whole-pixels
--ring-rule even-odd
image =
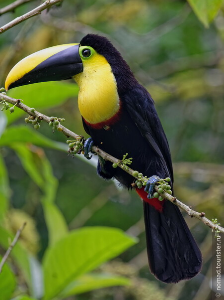
[[[91,137],[87,152],[92,143],[119,159],[127,152],[133,158],[131,167],[149,177],[147,187],[137,188],[122,168],[98,160],[101,177],[116,178],[122,186],[136,189],[143,200],[151,273],[168,284],[193,278],[202,268],[199,247],[179,208],[168,200],[159,201],[152,192],[158,177],[170,177],[173,183],[165,133],[149,92],[112,43],[87,34],[80,43],[33,53],[12,68],[5,88],[69,78],[79,86],[78,108]]]

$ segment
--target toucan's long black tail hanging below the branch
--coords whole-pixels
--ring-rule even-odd
[[[166,200],[159,212],[143,203],[151,272],[164,283],[196,276],[202,268],[202,254],[179,208]]]

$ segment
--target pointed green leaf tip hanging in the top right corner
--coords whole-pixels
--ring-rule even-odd
[[[213,21],[219,9],[222,6],[223,0],[188,0],[199,20],[209,27],[209,23]]]

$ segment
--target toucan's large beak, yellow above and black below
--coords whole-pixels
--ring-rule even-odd
[[[83,71],[79,44],[66,44],[35,52],[18,62],[5,80],[5,90],[45,81],[65,80]]]

